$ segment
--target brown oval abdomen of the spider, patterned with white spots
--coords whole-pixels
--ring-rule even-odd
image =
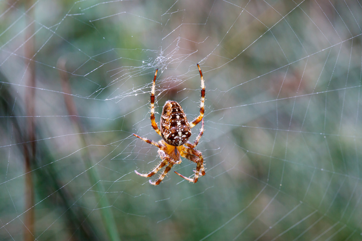
[[[162,109],[160,130],[168,145],[181,146],[191,136],[186,114],[176,101],[168,100]]]

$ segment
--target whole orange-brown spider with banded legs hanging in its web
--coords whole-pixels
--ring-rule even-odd
[[[151,177],[155,175],[161,168],[165,165],[164,171],[160,177],[152,182],[149,180],[152,185],[159,185],[167,173],[171,170],[174,164],[181,163],[181,156],[191,160],[196,163],[196,170],[194,178],[189,178],[182,176],[180,173],[174,171],[177,175],[190,182],[197,182],[199,175],[205,175],[205,168],[203,165],[203,157],[201,151],[194,149],[204,130],[203,114],[204,114],[204,102],[205,102],[205,85],[202,77],[202,72],[199,64],[197,64],[201,76],[201,105],[200,105],[200,115],[196,117],[193,121],[188,122],[186,119],[186,114],[181,108],[181,105],[176,101],[167,100],[162,109],[162,115],[160,120],[160,129],[157,126],[155,121],[155,82],[157,71],[155,72],[155,77],[153,77],[152,90],[151,90],[151,125],[153,129],[162,137],[162,140],[159,142],[152,141],[150,139],[140,137],[139,135],[133,134],[136,137],[142,139],[143,141],[150,143],[151,145],[157,146],[159,150],[157,153],[160,155],[161,162],[149,173],[141,174],[135,170],[135,173],[142,177]],[[200,121],[201,129],[199,135],[196,137],[194,143],[188,141],[191,136],[191,128],[197,125]],[[185,145],[184,145],[185,144]]]

